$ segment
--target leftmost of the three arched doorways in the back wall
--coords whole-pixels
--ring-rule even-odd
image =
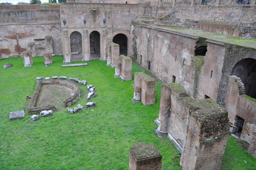
[[[82,48],[82,35],[78,31],[70,34],[70,47],[72,61],[82,61],[83,48]]]

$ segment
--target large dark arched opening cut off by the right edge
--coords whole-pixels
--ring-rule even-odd
[[[244,83],[245,94],[256,98],[256,60],[245,58],[233,67],[231,75],[236,75]]]

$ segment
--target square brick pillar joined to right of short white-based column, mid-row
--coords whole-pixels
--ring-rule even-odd
[[[141,102],[147,106],[155,103],[156,81],[147,76],[141,81]]]

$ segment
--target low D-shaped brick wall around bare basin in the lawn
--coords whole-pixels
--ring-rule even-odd
[[[80,97],[80,87],[72,81],[58,80],[58,79],[40,80],[36,84],[36,89],[28,104],[28,114],[38,114],[44,110],[57,111],[57,108],[55,107],[54,104],[49,104],[45,106],[36,106],[36,100],[40,94],[40,90],[43,84],[60,84],[60,85],[68,86],[74,89],[75,91],[74,95],[71,97],[68,97],[66,100],[63,101],[63,105],[65,107],[75,104],[78,98]]]

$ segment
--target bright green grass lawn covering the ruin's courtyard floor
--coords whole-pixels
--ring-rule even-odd
[[[55,56],[52,66],[43,67],[43,57],[34,57],[33,66],[24,67],[22,58],[8,58],[0,60],[0,66],[8,60],[13,66],[0,68],[0,169],[129,169],[129,148],[139,141],[156,144],[163,155],[162,169],[181,169],[179,151],[168,138],[160,139],[154,132],[160,83],[156,83],[157,103],[144,106],[131,101],[134,80],[114,78],[115,69],[106,66],[105,61],[61,68],[63,56]],[[133,73],[141,71],[135,64],[132,66]],[[26,122],[31,118],[26,96],[33,95],[36,77],[52,76],[79,78],[93,84],[97,96],[92,101],[98,106],[75,114],[67,110],[53,112],[53,116]],[[87,103],[87,87],[79,86],[81,99],[71,108]],[[25,119],[10,121],[9,113],[19,110],[25,111]],[[221,169],[248,168],[256,169],[256,159],[230,138]]]

